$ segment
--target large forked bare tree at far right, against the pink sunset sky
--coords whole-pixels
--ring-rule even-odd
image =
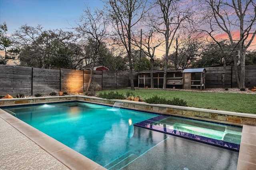
[[[204,29],[220,48],[226,35],[239,88],[245,88],[245,55],[256,35],[256,3],[254,0],[204,0]],[[210,12],[210,13],[209,13]],[[239,68],[240,67],[240,72]]]

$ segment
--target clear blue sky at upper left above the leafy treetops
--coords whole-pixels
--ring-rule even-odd
[[[0,23],[6,22],[8,34],[24,24],[64,29],[76,26],[75,21],[86,5],[102,9],[104,3],[100,0],[0,0]]]

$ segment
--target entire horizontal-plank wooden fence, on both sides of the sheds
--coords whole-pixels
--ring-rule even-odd
[[[222,87],[223,67],[206,68],[206,88]],[[59,70],[32,68],[22,66],[0,65],[0,96],[18,93],[35,95],[50,92],[83,92],[89,81],[90,70]],[[138,77],[133,73],[134,86],[138,86]],[[102,90],[124,88],[130,86],[129,72],[93,71],[92,81],[100,85]],[[225,87],[238,87],[233,66],[227,66]],[[256,86],[256,65],[246,66],[246,87]]]

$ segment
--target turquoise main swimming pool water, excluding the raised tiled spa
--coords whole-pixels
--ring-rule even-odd
[[[46,110],[43,110],[44,108]],[[58,113],[56,112],[57,108],[60,108]],[[13,107],[11,109],[8,108],[8,110],[14,112],[16,117],[36,127],[40,131],[52,137],[55,136],[55,139],[72,149],[80,153],[84,152],[83,154],[86,157],[108,169],[126,169],[129,167],[126,166],[126,164],[137,164],[138,161],[134,160],[141,160],[150,154],[152,150],[156,150],[159,147],[161,148],[161,146],[173,140],[176,145],[173,146],[173,144],[171,144],[168,147],[177,146],[177,148],[173,148],[173,151],[169,152],[168,147],[165,147],[166,150],[162,150],[162,155],[166,155],[166,152],[173,154],[174,151],[178,152],[180,149],[184,150],[191,143],[193,143],[194,148],[197,149],[200,147],[207,148],[204,150],[211,148],[211,146],[200,146],[193,141],[177,139],[176,137],[170,137],[163,133],[133,126],[134,123],[158,117],[159,115],[156,114],[127,109],[113,109],[108,106],[80,102],[36,105],[29,109],[25,107]],[[92,113],[90,111],[92,111]],[[128,113],[127,111],[132,113]],[[181,144],[183,144],[183,146],[181,146]],[[219,149],[214,147],[212,154],[214,154],[216,150]],[[158,152],[154,153],[154,157],[160,157]],[[222,150],[221,152],[228,153],[227,155],[232,155],[235,158],[231,161],[233,162],[231,163],[232,166],[229,165],[228,167],[236,166],[236,155],[238,156],[238,154],[227,150]],[[182,153],[184,153],[184,151]],[[182,153],[176,153],[174,157],[179,158],[178,155]],[[203,158],[201,158],[201,160],[203,161]],[[141,162],[141,164],[143,162]],[[177,162],[176,159],[175,162]],[[183,158],[183,162],[188,162],[188,159],[184,160]],[[175,165],[174,162],[172,162],[172,164],[173,166]],[[193,167],[193,164],[195,164],[195,162],[190,162],[186,166]],[[207,164],[209,165],[209,162]],[[167,166],[168,162],[166,162],[165,165]],[[146,165],[144,166],[146,167]],[[176,166],[186,167],[182,162]],[[206,165],[202,164],[197,165],[197,169],[200,169],[198,167],[205,166]]]

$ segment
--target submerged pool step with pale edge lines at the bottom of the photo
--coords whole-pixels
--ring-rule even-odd
[[[120,169],[120,168],[126,166],[127,164],[129,164],[131,161],[133,161],[136,158],[138,158],[138,156],[129,151],[129,152],[126,152],[125,154],[119,156],[112,162],[106,164],[104,167],[107,168],[108,170]]]

